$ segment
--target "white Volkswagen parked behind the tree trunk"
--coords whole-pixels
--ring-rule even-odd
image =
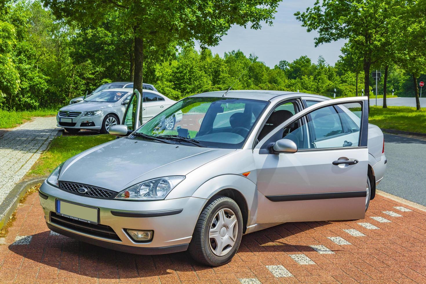
[[[107,89],[79,103],[64,106],[56,115],[58,127],[70,133],[77,133],[81,129],[108,133],[111,126],[121,123],[132,92],[132,88]],[[176,103],[155,91],[144,90],[142,96],[142,123]],[[170,118],[166,125],[167,129],[173,129],[176,121],[179,119]]]

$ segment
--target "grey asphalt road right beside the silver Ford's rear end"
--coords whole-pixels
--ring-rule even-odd
[[[426,206],[426,139],[385,133],[388,167],[377,189]]]

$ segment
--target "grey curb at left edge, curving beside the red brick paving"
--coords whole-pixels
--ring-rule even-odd
[[[19,200],[25,195],[27,190],[37,184],[42,184],[45,179],[45,177],[32,178],[27,181],[22,181],[14,186],[0,204],[0,229],[2,229],[9,221],[10,216],[12,216],[13,212],[18,207]]]

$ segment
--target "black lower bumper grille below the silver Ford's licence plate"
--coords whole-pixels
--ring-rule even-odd
[[[114,232],[114,230],[107,225],[89,224],[83,221],[77,221],[71,218],[60,216],[55,212],[50,212],[50,222],[52,222],[52,224],[82,232],[84,234],[94,235],[96,237],[101,238],[109,238],[115,241],[121,241],[121,239]]]

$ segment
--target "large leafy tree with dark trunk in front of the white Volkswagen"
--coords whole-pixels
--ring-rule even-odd
[[[67,17],[85,25],[105,22],[116,10],[121,26],[133,34],[134,87],[141,89],[147,53],[159,55],[172,43],[199,41],[214,46],[233,24],[261,28],[271,25],[279,0],[43,0],[58,18]]]

